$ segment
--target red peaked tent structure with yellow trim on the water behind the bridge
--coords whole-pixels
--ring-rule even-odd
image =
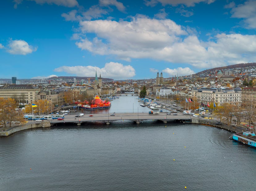
[[[81,106],[79,106],[79,108],[92,110],[92,109],[106,109],[106,108],[110,108],[110,106],[111,106],[110,101],[108,102],[103,101],[100,99],[98,95],[96,95],[95,98],[91,101],[91,104],[89,104],[89,102],[85,100],[83,103],[81,103]]]

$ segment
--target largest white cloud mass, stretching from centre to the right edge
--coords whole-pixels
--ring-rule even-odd
[[[93,20],[80,22],[76,45],[99,55],[118,59],[155,59],[186,63],[198,68],[219,67],[237,60],[255,61],[255,35],[218,34],[200,41],[196,31],[170,19],[151,19],[143,15],[130,21]],[[90,39],[87,35],[95,34]]]

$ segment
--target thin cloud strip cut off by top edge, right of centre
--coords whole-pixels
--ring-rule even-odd
[[[160,2],[163,6],[165,5],[186,5],[188,7],[195,6],[196,3],[205,2],[207,4],[213,3],[215,0],[144,0],[146,6],[156,6]]]

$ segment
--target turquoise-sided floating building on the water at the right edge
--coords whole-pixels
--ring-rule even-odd
[[[256,136],[254,132],[238,132],[233,134],[232,139],[256,148]]]

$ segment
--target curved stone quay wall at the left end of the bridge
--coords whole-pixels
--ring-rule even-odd
[[[42,121],[42,123],[35,123],[35,124],[23,124],[11,128],[7,128],[6,131],[0,131],[0,136],[9,136],[15,132],[26,130],[26,129],[32,129],[32,128],[45,128],[50,127],[51,123],[49,121]]]

